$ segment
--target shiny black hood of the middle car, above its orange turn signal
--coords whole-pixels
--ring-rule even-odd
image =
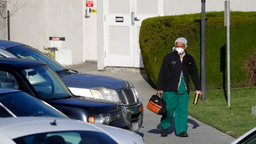
[[[47,100],[54,107],[90,109],[93,113],[109,113],[120,111],[122,108],[116,102],[106,100],[76,97],[71,99]]]

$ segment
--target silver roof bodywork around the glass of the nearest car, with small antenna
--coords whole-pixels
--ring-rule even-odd
[[[56,125],[52,124],[52,122]],[[19,129],[19,131],[17,131],[17,129]],[[77,120],[38,116],[0,119],[0,137],[2,143],[5,141],[9,142],[11,141],[10,139],[19,138],[21,136],[28,136],[32,133],[37,134],[54,131],[97,131],[108,134],[108,136],[116,140],[117,143],[144,143],[143,138],[139,134],[109,125],[90,124]]]

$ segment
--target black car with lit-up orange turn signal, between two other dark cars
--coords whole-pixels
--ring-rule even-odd
[[[40,61],[0,58],[0,81],[1,87],[23,90],[69,118],[115,127],[126,126],[120,104],[74,95],[56,72]]]

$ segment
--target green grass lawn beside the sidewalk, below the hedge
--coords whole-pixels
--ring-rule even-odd
[[[209,90],[205,102],[193,104],[194,92],[190,93],[189,115],[237,138],[256,127],[256,116],[252,107],[256,106],[256,86],[231,88],[230,107],[227,90]]]

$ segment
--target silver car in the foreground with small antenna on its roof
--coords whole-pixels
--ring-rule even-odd
[[[135,132],[108,125],[65,118],[0,118],[0,143],[4,144],[144,144]]]

